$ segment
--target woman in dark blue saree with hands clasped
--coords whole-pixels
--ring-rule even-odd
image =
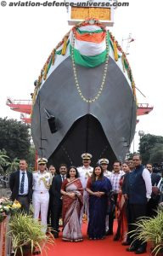
[[[89,194],[87,235],[89,239],[103,239],[105,236],[105,218],[110,190],[110,180],[108,177],[104,177],[101,166],[95,166],[92,177],[89,177],[87,181],[87,192]]]

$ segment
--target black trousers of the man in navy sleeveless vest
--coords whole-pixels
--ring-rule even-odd
[[[147,209],[146,204],[143,204],[143,205],[129,204],[129,211],[131,214],[130,230],[137,229],[137,226],[134,224],[136,224],[136,222],[139,220],[139,218],[146,216],[146,209]],[[134,237],[132,239],[134,239]],[[143,249],[146,249],[147,243],[136,239],[135,241],[133,241],[132,245],[136,248],[141,247]]]

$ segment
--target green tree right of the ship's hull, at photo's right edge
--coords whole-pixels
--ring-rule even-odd
[[[143,164],[151,160],[151,155],[157,150],[158,145],[163,145],[163,137],[152,134],[145,134],[139,143],[139,153],[142,156]],[[156,148],[155,148],[156,147]]]

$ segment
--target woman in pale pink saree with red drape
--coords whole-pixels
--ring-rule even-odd
[[[70,167],[60,190],[63,195],[63,240],[82,241],[80,213],[82,209],[82,183],[76,167]]]

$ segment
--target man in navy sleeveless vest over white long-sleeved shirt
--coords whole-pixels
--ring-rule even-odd
[[[142,165],[142,158],[139,154],[132,157],[135,169],[130,172],[126,195],[131,214],[132,230],[136,230],[138,219],[146,216],[147,202],[152,193],[152,183],[149,171]],[[141,254],[146,252],[147,243],[135,239],[132,245],[126,248],[127,252]]]

